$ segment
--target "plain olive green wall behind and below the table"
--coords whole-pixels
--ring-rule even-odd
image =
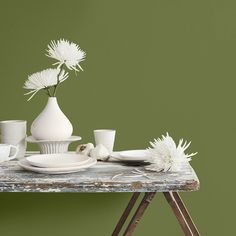
[[[84,72],[58,90],[74,134],[86,143],[114,128],[116,150],[167,131],[192,140],[201,188],[182,197],[202,235],[233,235],[235,11],[233,0],[1,1],[0,119],[30,126],[47,98],[27,102],[24,80],[54,62],[50,40],[79,43]],[[130,196],[0,193],[0,235],[110,235]],[[161,194],[135,235],[182,235]]]

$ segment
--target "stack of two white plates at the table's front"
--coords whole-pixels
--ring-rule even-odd
[[[81,154],[60,153],[33,155],[18,163],[26,170],[42,174],[66,174],[89,168],[95,165],[97,160]]]

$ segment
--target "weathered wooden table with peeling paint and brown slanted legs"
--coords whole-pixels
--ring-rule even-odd
[[[119,235],[142,192],[144,197],[125,230],[126,236],[132,235],[155,194],[162,192],[185,235],[199,235],[178,193],[198,190],[199,181],[192,167],[186,164],[176,173],[145,171],[147,176],[135,175],[134,169],[145,171],[143,166],[98,162],[90,169],[74,174],[45,175],[23,170],[17,165],[17,161],[4,162],[0,164],[0,192],[132,192],[131,200],[116,225],[113,236]],[[119,175],[120,173],[123,174]]]

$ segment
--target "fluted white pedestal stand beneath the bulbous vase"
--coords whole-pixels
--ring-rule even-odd
[[[66,153],[69,144],[81,140],[80,136],[71,136],[63,140],[36,140],[33,136],[26,138],[29,143],[37,143],[42,154]]]

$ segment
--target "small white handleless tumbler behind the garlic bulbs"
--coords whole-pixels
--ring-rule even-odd
[[[96,145],[102,144],[110,153],[112,153],[116,131],[111,129],[97,129],[93,132]]]

